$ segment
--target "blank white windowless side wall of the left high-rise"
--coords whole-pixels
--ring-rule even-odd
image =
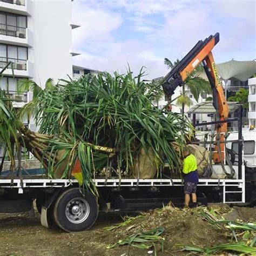
[[[71,0],[32,1],[33,48],[29,59],[34,65],[35,82],[44,87],[48,78],[72,77]],[[30,22],[31,22],[30,21]]]

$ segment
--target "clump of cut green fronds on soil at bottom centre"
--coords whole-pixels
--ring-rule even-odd
[[[154,228],[153,230],[146,232],[139,231],[136,234],[130,235],[127,238],[119,240],[113,245],[107,246],[107,248],[111,249],[120,245],[131,245],[140,249],[150,249],[152,246],[156,248],[156,243],[159,243],[161,247],[161,252],[163,252],[164,238],[161,237],[161,234],[163,233],[163,227]],[[156,250],[154,252],[156,255]]]

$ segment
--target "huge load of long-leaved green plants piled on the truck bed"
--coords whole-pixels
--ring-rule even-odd
[[[69,178],[79,159],[86,189],[93,189],[92,179],[102,175],[102,170],[106,178],[130,177],[142,150],[150,151],[159,176],[164,159],[177,171],[179,156],[171,143],[182,148],[184,134],[192,126],[184,116],[153,106],[152,97],[161,92],[160,86],[142,78],[143,72],[137,77],[130,71],[113,76],[101,73],[62,80],[56,86],[49,80],[44,90],[27,82],[35,97],[18,113],[1,91],[4,126],[0,140],[10,158],[13,145],[22,143],[41,160],[50,177]],[[24,129],[18,121],[26,111],[34,113],[39,133]]]

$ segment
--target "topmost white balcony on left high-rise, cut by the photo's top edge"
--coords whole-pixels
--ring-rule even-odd
[[[0,8],[13,14],[31,16],[32,3],[31,0],[0,0]]]

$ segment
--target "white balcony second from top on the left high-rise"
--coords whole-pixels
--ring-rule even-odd
[[[0,23],[0,43],[32,46],[33,35],[29,29]]]

